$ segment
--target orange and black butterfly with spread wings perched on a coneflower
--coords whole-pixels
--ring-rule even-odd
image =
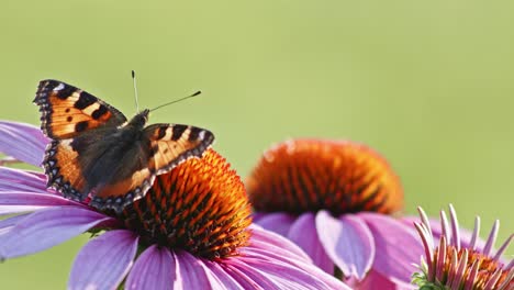
[[[116,212],[144,197],[157,175],[201,157],[212,132],[181,124],[152,124],[149,110],[130,121],[99,98],[58,80],[42,80],[34,103],[51,138],[43,167],[47,187],[64,197]]]

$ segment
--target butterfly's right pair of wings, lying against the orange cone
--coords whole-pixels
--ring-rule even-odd
[[[168,172],[191,157],[201,157],[214,141],[203,129],[180,124],[153,124],[143,138],[126,154],[109,182],[94,190],[91,205],[103,210],[123,210],[146,193],[157,175]]]

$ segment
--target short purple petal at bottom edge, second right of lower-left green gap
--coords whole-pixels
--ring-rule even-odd
[[[128,274],[125,289],[174,289],[177,261],[167,248],[153,245],[137,257]]]

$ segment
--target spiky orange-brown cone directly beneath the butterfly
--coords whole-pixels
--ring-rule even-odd
[[[250,207],[239,177],[209,149],[156,178],[146,196],[119,219],[143,246],[181,248],[209,259],[233,256],[247,244]]]

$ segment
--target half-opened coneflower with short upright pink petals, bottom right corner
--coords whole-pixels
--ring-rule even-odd
[[[514,234],[493,253],[500,222],[494,223],[483,247],[478,246],[480,217],[474,220],[470,239],[462,243],[457,213],[449,205],[450,224],[444,211],[440,212],[442,235],[434,238],[431,222],[423,209],[418,208],[422,222],[414,225],[425,247],[420,265],[421,272],[414,275],[414,282],[423,289],[481,290],[514,289],[514,260],[509,265],[501,260]]]

